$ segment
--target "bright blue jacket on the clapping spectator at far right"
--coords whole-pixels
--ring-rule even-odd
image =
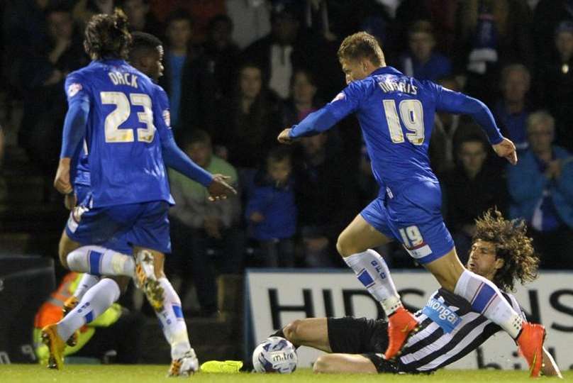
[[[548,188],[559,218],[573,228],[573,157],[563,148],[553,146],[556,160],[565,160],[560,177],[547,179],[540,171],[538,160],[531,150],[519,157],[517,165],[508,167],[508,189],[511,194],[509,214],[511,218],[525,218],[529,223],[533,213]]]

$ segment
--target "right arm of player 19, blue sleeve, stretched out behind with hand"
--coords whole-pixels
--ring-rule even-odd
[[[457,91],[450,91],[450,89],[435,84],[433,86],[437,89],[436,109],[438,111],[472,116],[486,133],[489,143],[497,155],[505,157],[511,165],[516,165],[516,145],[501,135],[494,116],[486,104]]]

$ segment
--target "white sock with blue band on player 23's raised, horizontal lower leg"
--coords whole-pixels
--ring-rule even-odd
[[[87,272],[92,275],[126,275],[133,277],[135,260],[101,246],[82,246],[67,255],[69,270]]]

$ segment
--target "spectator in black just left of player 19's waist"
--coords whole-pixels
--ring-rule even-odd
[[[299,208],[299,233],[308,267],[333,267],[336,240],[357,211],[358,170],[326,142],[326,133],[301,139],[296,164],[296,206]]]

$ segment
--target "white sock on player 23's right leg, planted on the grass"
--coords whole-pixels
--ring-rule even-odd
[[[171,345],[172,359],[179,359],[191,350],[181,299],[167,278],[157,280],[164,291],[163,311],[156,312],[157,318],[159,318],[167,343]]]

